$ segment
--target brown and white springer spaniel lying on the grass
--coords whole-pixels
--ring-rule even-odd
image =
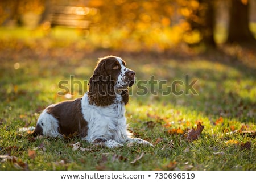
[[[76,135],[94,144],[114,148],[126,142],[149,144],[127,131],[125,105],[127,88],[134,84],[135,72],[120,57],[101,58],[82,98],[48,106],[40,114],[33,135],[63,137]]]

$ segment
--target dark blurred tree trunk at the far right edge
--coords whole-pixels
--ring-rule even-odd
[[[256,40],[249,29],[249,0],[232,0],[229,10],[228,39],[226,43],[254,44]]]

